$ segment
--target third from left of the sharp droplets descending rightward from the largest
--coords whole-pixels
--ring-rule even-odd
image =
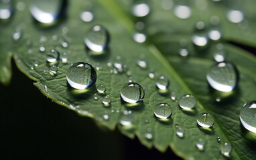
[[[153,109],[155,117],[167,119],[172,115],[172,107],[168,103],[159,103]]]

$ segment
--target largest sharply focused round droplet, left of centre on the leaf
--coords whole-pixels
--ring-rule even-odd
[[[97,80],[97,73],[89,63],[77,62],[66,73],[68,84],[75,89],[87,89]]]

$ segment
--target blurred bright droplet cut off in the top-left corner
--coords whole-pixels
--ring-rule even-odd
[[[13,4],[11,0],[0,1],[0,20],[6,20],[13,14]]]

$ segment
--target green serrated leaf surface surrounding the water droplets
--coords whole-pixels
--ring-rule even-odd
[[[211,10],[217,15],[220,15],[221,9],[225,9],[212,2],[202,2],[211,6]],[[24,3],[28,8],[29,3]],[[94,1],[92,6],[95,18],[90,23],[84,23],[79,18],[82,11],[81,5],[82,0],[69,1],[66,19],[54,27],[48,28],[42,28],[38,23],[34,23],[27,8],[17,11],[13,15],[12,21],[4,29],[1,29],[1,34],[5,33],[11,39],[12,31],[19,25],[23,31],[23,37],[17,42],[8,40],[9,43],[1,48],[1,51],[5,53],[3,59],[1,57],[1,61],[9,61],[11,55],[6,55],[8,55],[8,51],[12,51],[17,67],[36,81],[34,84],[44,95],[50,97],[54,102],[76,111],[78,115],[92,117],[99,125],[109,129],[115,129],[115,126],[118,125],[123,134],[131,138],[136,135],[139,141],[148,148],[156,147],[159,151],[166,151],[170,146],[177,155],[184,159],[226,159],[220,154],[220,143],[216,141],[216,138],[220,137],[222,143],[228,141],[233,145],[231,159],[253,159],[256,157],[255,147],[253,147],[255,139],[252,139],[255,135],[250,135],[251,133],[245,131],[239,122],[239,112],[243,103],[256,98],[252,87],[255,86],[253,69],[256,67],[256,59],[247,51],[225,43],[229,53],[227,60],[235,63],[241,73],[241,81],[231,95],[212,91],[208,87],[205,77],[207,69],[214,63],[211,51],[208,48],[198,51],[190,43],[192,28],[198,21],[196,15],[200,15],[203,11],[197,11],[193,6],[194,17],[180,21],[170,11],[160,9],[157,1],[151,1],[152,12],[145,19],[149,36],[148,43],[139,44],[132,39],[132,34],[135,31],[133,22],[135,19],[126,12],[129,11],[129,6],[123,7],[121,1]],[[200,17],[204,18],[204,16]],[[222,16],[221,19],[225,18]],[[184,27],[186,22],[189,22],[190,25]],[[111,36],[109,49],[105,55],[90,55],[89,51],[84,49],[85,33],[95,24],[104,25]],[[246,32],[235,30],[236,25],[225,22],[223,26],[223,33],[225,33],[223,38],[226,41],[239,43],[248,41],[249,45],[255,46],[255,38],[252,36],[247,39]],[[150,27],[159,32],[149,32],[152,31]],[[229,31],[229,27],[232,28],[231,31]],[[63,29],[68,29],[68,33],[63,33]],[[67,48],[61,46],[63,35],[70,39]],[[46,52],[43,53],[39,51],[42,45],[40,43],[42,36],[47,39],[43,44],[46,47]],[[180,39],[188,41],[191,54],[187,59],[178,55]],[[27,45],[27,41],[31,41],[32,46]],[[4,39],[1,38],[1,45],[4,43]],[[56,75],[50,71],[50,66],[46,63],[46,53],[52,48],[60,51],[59,69]],[[141,53],[147,59],[147,69],[141,69],[136,64]],[[121,56],[123,64],[127,66],[126,69],[131,76],[127,73],[111,73],[113,67],[109,67],[107,63],[115,62],[118,55]],[[68,63],[62,63],[61,59],[64,56],[68,57]],[[77,61],[86,61],[95,68],[102,68],[97,71],[96,85],[90,87],[88,91],[72,89],[66,82],[68,67]],[[3,63],[3,66],[6,67],[7,63]],[[148,77],[150,69],[155,72],[154,79]],[[10,74],[10,72],[7,73]],[[2,77],[3,73],[0,72],[0,74]],[[161,75],[170,80],[168,93],[159,93],[155,89],[155,81]],[[130,77],[145,89],[145,99],[135,106],[123,103],[120,98],[121,88],[129,81]],[[105,94],[100,94],[99,99],[94,100],[94,94],[97,93],[95,86],[102,83],[107,87],[105,94],[111,97],[111,106],[109,107],[105,107],[101,102]],[[171,92],[176,93],[177,97],[192,93],[198,100],[196,109],[193,111],[180,109],[178,102],[170,99]],[[216,97],[220,97],[219,103],[215,101]],[[153,115],[153,107],[161,102],[168,103],[172,107],[172,117],[167,121],[157,119]],[[131,111],[131,114],[134,115],[132,127],[119,124],[123,111]],[[215,124],[212,129],[198,127],[196,117],[202,112],[213,115]],[[107,118],[106,115],[108,115]],[[176,124],[184,129],[184,138],[176,136]],[[150,134],[151,138],[148,136]],[[200,138],[206,141],[204,151],[196,149],[196,142]]]

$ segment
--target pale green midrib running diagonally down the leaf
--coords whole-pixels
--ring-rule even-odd
[[[113,15],[113,17],[116,17],[116,19],[121,21],[123,23],[123,26],[129,31],[129,33],[131,33],[131,34],[133,33],[133,31],[135,30],[135,28],[133,27],[134,26],[133,22],[131,21],[131,19],[129,19],[129,17],[127,17],[127,15],[125,15],[125,13],[120,9],[121,7],[119,7],[119,5],[117,5],[117,3],[115,3],[113,0],[109,0],[109,1],[97,0],[97,1],[99,1],[99,3],[101,3],[105,7],[105,9],[107,11],[109,11],[109,13],[111,13],[111,15]],[[178,81],[178,83],[180,83],[180,85],[184,88],[184,90],[187,91],[188,93],[192,93],[192,91],[189,89],[189,87],[186,85],[186,83],[184,83],[184,81],[182,80],[180,75],[178,75],[178,73],[176,73],[176,70],[174,69],[174,67],[172,67],[172,65],[170,65],[170,63],[168,63],[168,61],[166,61],[166,59],[163,57],[161,52],[158,51],[158,49],[155,47],[155,45],[149,45],[148,48],[149,48],[149,51],[151,51],[151,53],[153,53],[153,55],[159,61],[161,61],[162,64],[164,64],[164,67],[166,67],[168,72]],[[205,111],[205,109],[202,106],[202,104],[200,103],[200,101],[198,101],[198,106],[200,107],[200,109]],[[225,139],[229,139],[227,137],[226,133],[224,131],[222,131],[222,129],[218,125],[215,125],[215,127],[218,127],[219,131],[221,131],[223,133],[223,135],[225,135]],[[230,139],[229,139],[229,141],[230,141]],[[235,157],[237,157],[237,159],[240,159],[239,154],[237,153],[235,147],[233,149],[233,153],[234,153]],[[182,156],[183,153],[179,154],[179,155]]]

